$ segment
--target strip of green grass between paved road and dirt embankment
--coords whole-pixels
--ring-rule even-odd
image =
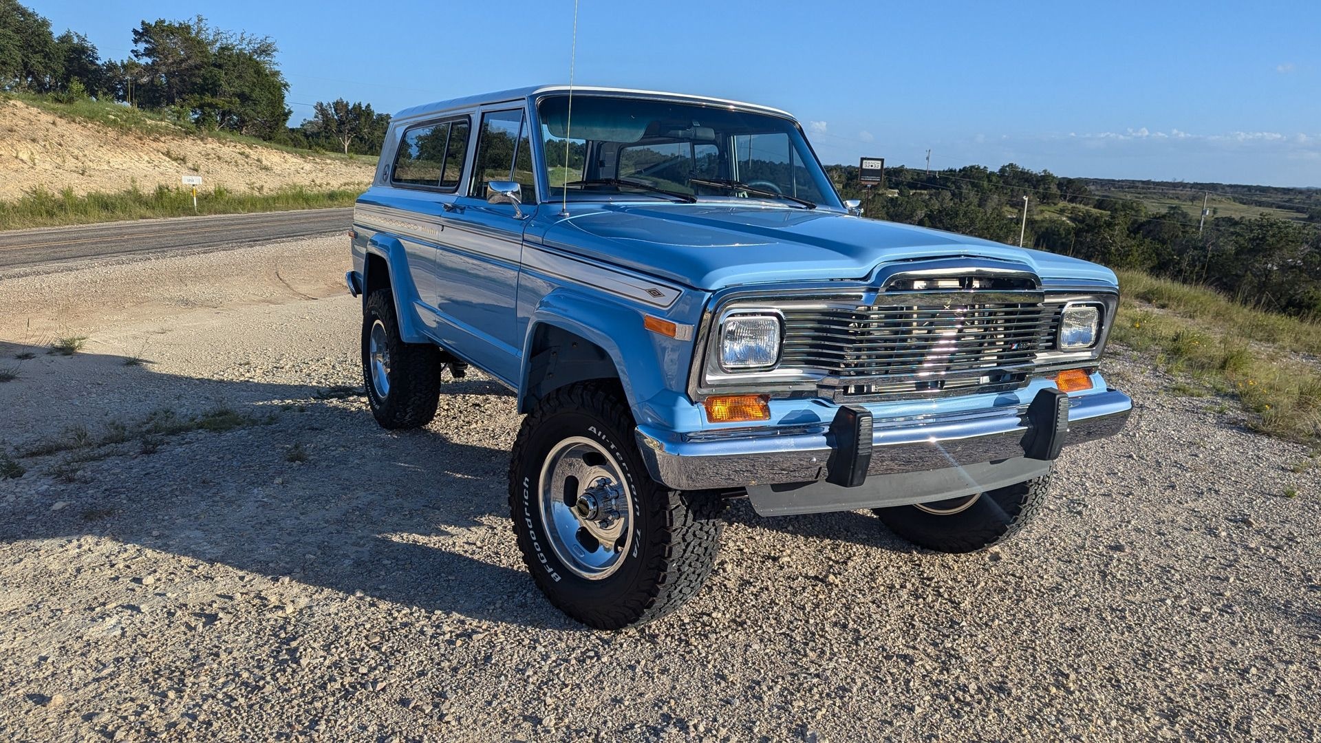
[[[199,192],[198,214],[247,214],[351,206],[358,190],[310,190],[291,186],[269,193],[230,193],[222,186]],[[131,188],[119,193],[78,196],[73,189],[52,193],[33,189],[16,201],[0,201],[0,230],[86,225],[116,219],[185,217],[193,214],[192,192],[184,188],[156,186],[155,190]]]

